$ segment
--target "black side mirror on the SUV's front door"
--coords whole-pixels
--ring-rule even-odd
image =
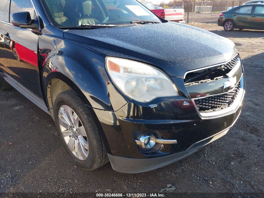
[[[38,29],[37,21],[31,19],[29,12],[13,13],[12,24],[20,28]]]

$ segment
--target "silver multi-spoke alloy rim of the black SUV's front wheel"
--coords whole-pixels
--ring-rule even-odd
[[[86,160],[89,146],[81,120],[67,105],[62,105],[59,108],[58,117],[61,133],[68,148],[79,160]]]

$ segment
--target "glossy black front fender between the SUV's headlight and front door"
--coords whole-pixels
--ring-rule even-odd
[[[51,34],[40,37],[39,48],[48,49],[43,64],[42,81],[44,93],[52,78],[61,79],[77,93],[90,107],[101,110],[117,111],[128,101],[112,85],[105,69],[106,55],[83,45],[63,38],[54,38]],[[61,32],[61,31],[60,31]],[[50,43],[47,44],[47,41]]]

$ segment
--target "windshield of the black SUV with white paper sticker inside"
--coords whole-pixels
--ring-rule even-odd
[[[161,22],[137,0],[41,0],[51,23],[57,27],[83,24],[127,25],[132,21]]]

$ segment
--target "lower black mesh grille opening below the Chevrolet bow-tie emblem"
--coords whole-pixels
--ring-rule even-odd
[[[201,113],[218,111],[229,107],[237,98],[237,94],[239,93],[239,90],[240,90],[240,82],[231,92],[221,95],[209,96],[194,101],[197,106],[197,109]]]

